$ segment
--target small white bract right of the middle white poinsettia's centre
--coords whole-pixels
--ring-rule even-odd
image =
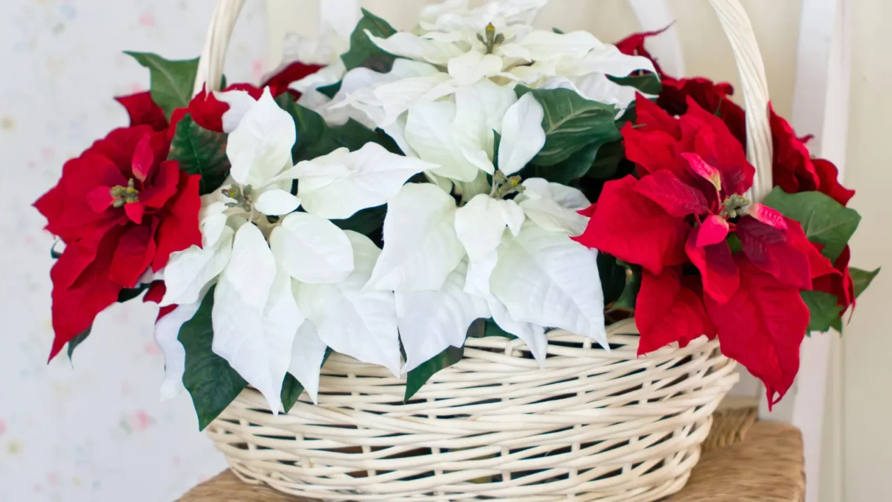
[[[514,200],[530,220],[544,230],[582,235],[589,218],[578,211],[591,205],[582,191],[541,178],[524,180],[523,185],[524,192]]]

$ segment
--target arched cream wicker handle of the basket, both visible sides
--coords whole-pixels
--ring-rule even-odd
[[[753,26],[739,0],[709,0],[709,3],[722,23],[737,62],[747,109],[747,157],[756,166],[749,196],[750,200],[759,201],[772,190],[772,134],[762,54],[756,44]],[[198,64],[194,94],[201,92],[205,83],[209,89],[219,89],[229,38],[243,6],[244,0],[218,0]]]

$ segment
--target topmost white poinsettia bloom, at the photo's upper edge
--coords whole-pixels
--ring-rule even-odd
[[[589,99],[621,108],[628,105],[634,99],[635,89],[616,84],[608,76],[626,77],[641,70],[655,72],[653,64],[646,57],[622,54],[615,46],[604,44],[584,31],[563,34],[533,29],[530,22],[544,4],[545,0],[500,0],[470,9],[467,2],[449,1],[425,7],[412,33],[398,32],[389,38],[379,38],[367,30],[368,38],[384,51],[427,64],[426,70],[413,78],[396,78],[395,75],[405,73],[406,65],[401,63],[405,60],[397,60],[401,68],[395,63],[391,74],[364,78],[364,88],[342,88],[340,101],[367,113],[370,121],[398,143],[402,130],[414,129],[413,124],[426,127],[434,123],[427,117],[409,119],[411,123],[401,125],[401,121],[406,121],[403,113],[411,115],[415,105],[443,96],[456,103],[461,100],[458,95],[462,89],[483,81],[509,92],[518,84],[530,88],[573,88]],[[368,72],[363,68],[349,71],[344,82],[355,83],[353,73],[368,75]],[[460,111],[454,113],[446,107],[419,113],[450,117],[440,118],[436,123],[461,121]],[[502,116],[500,113],[499,117]],[[475,121],[475,124],[482,123],[485,122]],[[396,131],[392,132],[394,128]],[[441,135],[448,134],[442,127],[438,130]],[[478,134],[477,138],[484,137]],[[449,145],[446,141],[442,147]],[[419,155],[433,155],[425,154],[414,145],[412,149]]]

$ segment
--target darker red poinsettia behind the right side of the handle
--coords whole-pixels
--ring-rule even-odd
[[[632,35],[616,46],[624,54],[637,54],[653,60],[644,42],[660,32],[649,32]],[[747,133],[745,113],[739,105],[731,101],[734,89],[728,83],[714,83],[712,80],[675,79],[666,75],[655,63],[663,84],[663,90],[657,97],[657,105],[673,115],[682,115],[688,111],[689,98],[700,107],[722,118],[731,134],[746,145]],[[805,146],[805,138],[798,138],[789,122],[774,113],[771,108],[772,144],[774,157],[772,162],[774,185],[788,193],[818,190],[832,197],[841,205],[847,205],[855,195],[839,184],[837,167],[824,159],[812,159]]]

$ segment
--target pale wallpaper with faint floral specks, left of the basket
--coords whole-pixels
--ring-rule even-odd
[[[157,307],[115,305],[69,361],[46,364],[52,236],[31,203],[62,163],[127,115],[112,96],[145,90],[123,50],[201,52],[215,0],[0,3],[0,502],[169,502],[219,473],[187,395],[159,402]],[[247,2],[229,48],[230,81],[259,81],[265,2]],[[145,328],[133,328],[135,326]]]

